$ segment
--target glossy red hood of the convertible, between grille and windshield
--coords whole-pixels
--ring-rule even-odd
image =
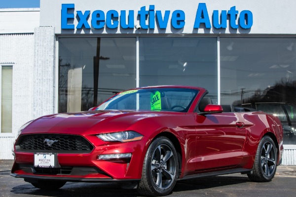
[[[170,112],[136,111],[86,111],[62,113],[37,118],[30,123],[22,134],[29,133],[66,133],[98,134],[128,130],[136,121],[159,116],[168,116]]]

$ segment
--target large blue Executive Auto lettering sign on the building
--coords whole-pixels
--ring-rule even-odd
[[[189,13],[188,13],[189,14]],[[192,14],[192,13],[191,13]],[[90,17],[91,16],[91,17]],[[235,6],[229,10],[214,10],[213,13],[208,13],[206,3],[199,3],[195,16],[193,29],[198,29],[203,25],[206,29],[226,29],[229,24],[232,29],[250,29],[253,25],[253,14],[250,10],[236,10]],[[172,25],[175,29],[185,27],[186,14],[183,10],[156,10],[154,5],[148,7],[142,6],[137,13],[135,21],[134,10],[109,10],[106,13],[103,10],[76,10],[75,4],[62,4],[61,11],[61,29],[154,29],[155,24],[158,24],[159,29],[166,29],[168,25]],[[169,19],[170,23],[169,23]],[[75,27],[74,20],[77,20]],[[228,22],[227,22],[228,21]]]

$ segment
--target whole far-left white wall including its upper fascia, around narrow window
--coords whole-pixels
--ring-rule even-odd
[[[39,8],[0,9],[0,65],[13,65],[12,133],[0,133],[0,159],[13,159],[17,130],[33,119],[34,28]]]

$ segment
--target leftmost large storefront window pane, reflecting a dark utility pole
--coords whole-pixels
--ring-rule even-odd
[[[136,38],[60,38],[59,112],[98,106],[136,86]]]

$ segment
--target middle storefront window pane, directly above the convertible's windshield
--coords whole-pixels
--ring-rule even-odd
[[[217,38],[140,38],[140,86],[205,87],[217,102]]]

